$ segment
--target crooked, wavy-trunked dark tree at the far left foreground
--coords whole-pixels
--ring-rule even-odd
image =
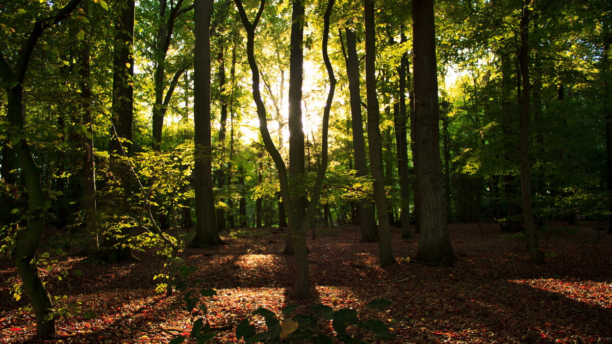
[[[55,333],[53,302],[40,280],[34,259],[36,247],[45,227],[45,210],[48,209],[48,205],[45,205],[45,192],[40,182],[40,168],[34,161],[30,145],[26,141],[23,84],[31,62],[32,51],[40,36],[47,29],[69,17],[80,2],[81,0],[71,0],[64,7],[56,7],[53,12],[48,7],[47,11],[35,17],[13,61],[7,60],[7,57],[4,56],[5,51],[0,51],[0,77],[6,87],[7,118],[12,127],[9,140],[12,142],[13,151],[17,154],[24,184],[28,189],[28,220],[26,228],[19,233],[17,242],[15,242],[11,259],[23,283],[23,290],[28,294],[30,304],[34,308],[36,334],[39,337],[47,337]],[[11,62],[13,67],[11,67]]]

